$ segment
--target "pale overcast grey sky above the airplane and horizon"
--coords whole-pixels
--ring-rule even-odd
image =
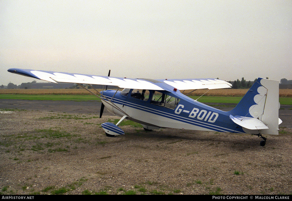
[[[292,1],[1,0],[0,85],[17,67],[128,78],[292,79]],[[42,82],[37,80],[37,82]]]

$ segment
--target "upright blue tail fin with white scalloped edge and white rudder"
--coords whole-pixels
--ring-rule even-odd
[[[269,128],[261,131],[249,130],[247,133],[278,135],[279,81],[258,78],[230,112],[232,115],[259,119]]]

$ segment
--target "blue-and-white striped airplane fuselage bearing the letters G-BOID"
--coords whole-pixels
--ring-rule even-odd
[[[158,104],[153,97],[156,93],[154,90],[149,90],[148,99],[137,98],[133,89],[129,90],[128,93],[120,91],[116,93],[115,90],[106,90],[100,93],[109,100],[111,99],[112,103],[123,110],[129,116],[128,119],[144,125],[160,128],[244,133],[237,124],[230,120],[230,112],[224,112],[195,101],[179,91],[176,93],[159,91],[165,97],[163,97],[164,100],[159,99]],[[177,101],[176,104],[167,105],[166,97]],[[102,103],[109,112],[120,117],[125,115],[109,104],[105,98],[102,99]]]

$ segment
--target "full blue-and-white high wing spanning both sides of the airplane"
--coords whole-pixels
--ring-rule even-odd
[[[221,89],[230,88],[232,85],[219,79],[143,79],[143,78],[120,78],[108,77],[78,73],[52,72],[44,70],[30,70],[11,68],[8,72],[45,80],[48,82],[67,82],[79,84],[100,84],[112,85],[120,88],[129,89],[149,89],[149,90],[166,90],[164,86],[172,86],[178,90],[187,89]]]

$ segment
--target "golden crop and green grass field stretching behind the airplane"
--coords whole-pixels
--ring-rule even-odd
[[[94,91],[93,89],[91,89]],[[98,89],[101,91],[102,89]],[[196,90],[188,96],[197,99],[208,91],[198,101],[203,103],[234,103],[237,104],[248,89],[213,89]],[[185,91],[185,94],[189,91]],[[0,99],[24,100],[100,100],[85,89],[0,89]],[[292,89],[279,90],[279,102],[282,105],[292,105]]]

